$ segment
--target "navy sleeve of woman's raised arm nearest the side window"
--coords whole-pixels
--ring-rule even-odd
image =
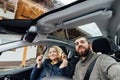
[[[37,64],[36,64],[30,74],[30,80],[37,80],[39,78],[41,70],[42,70],[41,68],[37,68]]]

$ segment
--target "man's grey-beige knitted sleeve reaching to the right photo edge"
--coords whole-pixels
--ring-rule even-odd
[[[120,80],[120,63],[108,55],[101,56],[100,68],[110,80]]]

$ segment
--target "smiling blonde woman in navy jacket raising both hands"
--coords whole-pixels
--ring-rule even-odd
[[[42,56],[38,56],[36,63],[32,70],[30,80],[41,80],[47,76],[68,77],[70,74],[66,55],[58,46],[52,46],[48,49],[47,59],[43,63]]]

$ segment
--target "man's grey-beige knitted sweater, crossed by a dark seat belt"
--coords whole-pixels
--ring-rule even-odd
[[[98,54],[91,53],[84,61],[80,60],[76,64],[73,79],[83,80],[88,66],[97,56]],[[96,60],[89,80],[120,80],[120,63],[108,55],[100,55]]]

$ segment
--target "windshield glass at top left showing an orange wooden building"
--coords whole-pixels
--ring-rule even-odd
[[[0,0],[0,19],[35,19],[74,1],[76,0]]]

